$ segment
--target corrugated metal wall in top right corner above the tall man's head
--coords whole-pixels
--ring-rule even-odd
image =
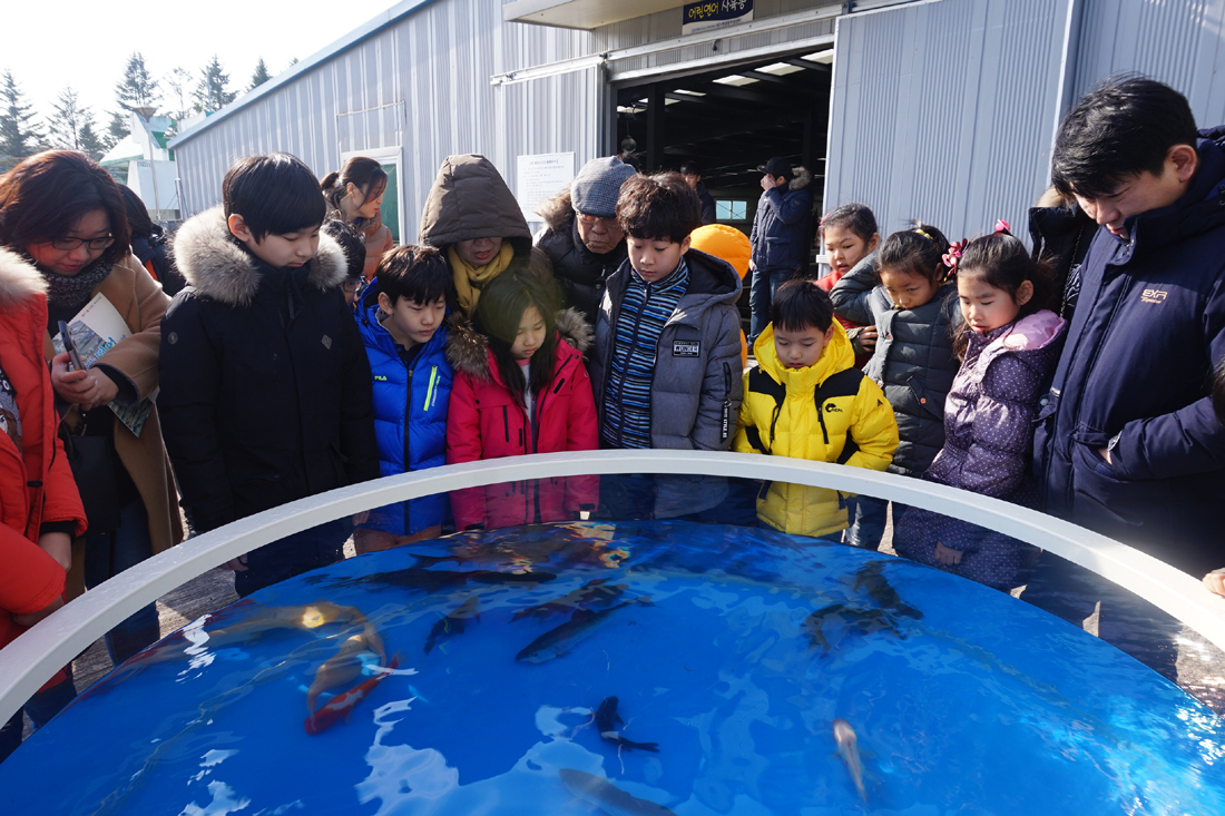
[[[1084,0],[1074,94],[1139,71],[1186,94],[1200,127],[1225,124],[1225,0]]]

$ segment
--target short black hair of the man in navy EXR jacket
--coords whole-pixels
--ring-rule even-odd
[[[1060,124],[1051,181],[1065,196],[1106,197],[1129,176],[1160,175],[1171,147],[1198,138],[1185,96],[1143,76],[1111,77]]]

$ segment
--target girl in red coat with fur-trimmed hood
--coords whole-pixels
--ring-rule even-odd
[[[590,327],[556,304],[550,276],[513,262],[481,292],[473,323],[457,321],[447,464],[599,447],[583,365]],[[584,517],[598,495],[597,477],[527,479],[457,490],[451,510],[457,529],[510,527]]]

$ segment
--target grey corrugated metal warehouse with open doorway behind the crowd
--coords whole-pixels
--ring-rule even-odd
[[[241,156],[376,158],[403,241],[447,154],[485,154],[530,208],[626,137],[647,169],[697,161],[726,223],[788,156],[827,210],[956,236],[1024,223],[1061,115],[1111,74],[1225,123],[1223,27],[1225,0],[405,0],[172,147],[185,216]]]

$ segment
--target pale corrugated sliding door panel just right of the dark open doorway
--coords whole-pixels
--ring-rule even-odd
[[[1025,234],[1045,189],[1069,0],[941,0],[840,17],[826,211],[870,206],[951,239]]]

